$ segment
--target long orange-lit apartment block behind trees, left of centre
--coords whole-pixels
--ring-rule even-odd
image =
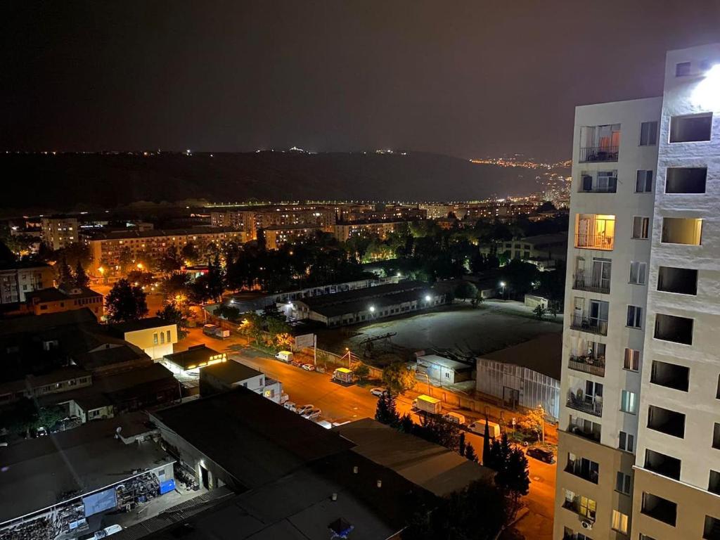
[[[202,253],[210,243],[224,246],[229,242],[245,241],[246,234],[243,231],[227,227],[88,233],[86,242],[93,258],[89,273],[95,277],[123,274],[136,261],[152,269],[168,248],[175,248],[179,252],[192,244]]]

